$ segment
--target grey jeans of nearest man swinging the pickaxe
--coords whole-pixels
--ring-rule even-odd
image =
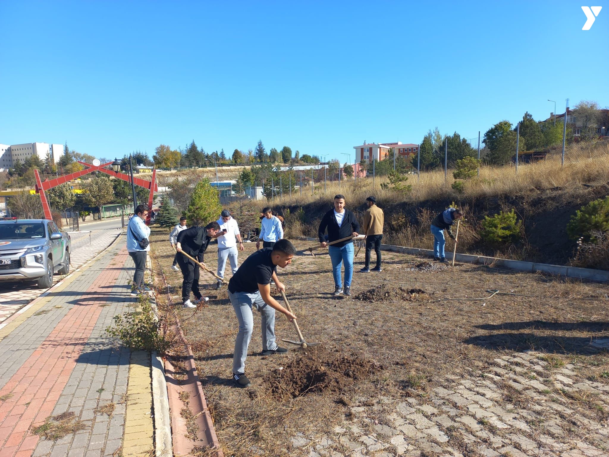
[[[228,292],[228,298],[233,303],[234,313],[239,321],[239,332],[234,342],[233,373],[241,374],[245,370],[247,347],[250,344],[250,339],[252,339],[254,328],[252,305],[256,306],[262,318],[262,350],[272,350],[277,347],[275,343],[275,310],[264,303],[258,291],[253,294]]]

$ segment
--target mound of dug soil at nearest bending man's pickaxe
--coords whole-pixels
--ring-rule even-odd
[[[382,367],[357,355],[344,355],[326,349],[308,349],[283,369],[266,375],[270,392],[278,399],[293,399],[320,392],[340,392],[375,374]]]

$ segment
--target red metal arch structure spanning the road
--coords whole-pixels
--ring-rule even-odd
[[[36,170],[36,169],[34,170],[34,175],[36,176],[36,193],[40,194],[40,201],[42,203],[42,208],[44,210],[44,219],[49,219],[49,221],[52,221],[52,219],[53,219],[51,216],[51,207],[49,206],[49,200],[46,198],[46,194],[44,194],[44,191],[48,191],[48,190],[54,188],[55,186],[64,184],[66,182],[70,182],[72,179],[79,178],[81,176],[89,174],[92,171],[100,171],[102,173],[113,176],[115,178],[122,179],[127,182],[131,182],[130,176],[128,174],[124,174],[121,172],[116,172],[114,170],[108,170],[108,169],[104,168],[105,166],[112,165],[112,162],[101,163],[100,165],[97,165],[97,166],[91,165],[90,163],[82,162],[80,160],[78,161],[78,163],[80,163],[80,165],[84,165],[88,168],[85,168],[84,170],[77,171],[74,173],[66,174],[65,176],[60,176],[55,179],[50,179],[50,180],[45,179],[44,181],[40,180],[40,174],[38,174],[38,170]],[[152,170],[152,180],[150,180],[150,181],[147,181],[147,180],[141,179],[141,178],[136,178],[134,176],[133,184],[135,184],[136,186],[140,186],[145,189],[148,189],[150,191],[150,196],[148,197],[148,207],[152,210],[152,201],[154,199],[154,193],[158,192],[157,170]],[[148,213],[148,216],[146,217],[146,224],[150,224],[150,217],[151,217],[150,213]]]

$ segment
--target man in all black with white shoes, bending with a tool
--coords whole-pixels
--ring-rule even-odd
[[[209,222],[205,227],[191,227],[182,230],[178,233],[178,238],[175,243],[177,252],[184,251],[190,257],[193,257],[203,263],[203,252],[207,249],[209,241],[216,238],[216,234],[220,231],[220,225],[214,221]],[[199,291],[199,264],[190,260],[185,255],[178,256],[178,265],[184,276],[182,281],[182,303],[185,308],[196,308],[190,300],[190,292],[194,294],[195,299],[202,300],[201,292]]]

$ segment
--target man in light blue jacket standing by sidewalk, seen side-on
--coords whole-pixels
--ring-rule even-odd
[[[135,208],[135,216],[129,219],[127,224],[127,252],[135,263],[135,273],[133,274],[133,284],[131,286],[131,296],[137,297],[140,292],[149,292],[144,286],[144,270],[146,269],[146,257],[150,250],[150,244],[146,247],[141,246],[141,242],[150,236],[150,227],[146,225],[148,207],[138,205]]]

